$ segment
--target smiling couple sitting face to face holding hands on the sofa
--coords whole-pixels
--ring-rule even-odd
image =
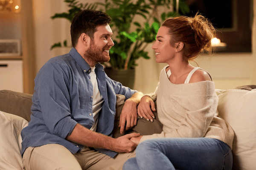
[[[110,79],[99,64],[114,45],[110,22],[104,12],[81,11],[71,24],[73,48],[38,72],[31,121],[21,132],[24,169],[231,170],[234,133],[218,116],[215,84],[189,64],[211,47],[211,23],[200,14],[163,23],[152,48],[156,62],[168,65],[155,92],[144,95]],[[111,137],[116,94],[125,96],[121,134],[137,120],[159,120],[163,129]]]

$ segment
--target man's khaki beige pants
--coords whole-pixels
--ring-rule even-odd
[[[28,147],[23,154],[24,170],[122,170],[126,160],[135,157],[131,153],[119,153],[114,158],[84,147],[72,154],[60,144]]]

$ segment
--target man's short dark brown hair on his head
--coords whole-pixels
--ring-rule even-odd
[[[97,26],[107,25],[111,22],[108,14],[96,10],[83,10],[76,14],[73,18],[70,33],[73,47],[76,46],[77,41],[82,33],[87,34],[93,39],[93,34],[97,31]]]

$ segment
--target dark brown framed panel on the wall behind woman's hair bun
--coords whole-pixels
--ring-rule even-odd
[[[217,47],[216,52],[251,52],[253,23],[252,0],[186,0],[194,16],[200,12],[217,29],[216,37],[226,46]]]

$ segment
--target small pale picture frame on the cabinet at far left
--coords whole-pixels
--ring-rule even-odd
[[[20,40],[0,39],[0,57],[20,56]]]

